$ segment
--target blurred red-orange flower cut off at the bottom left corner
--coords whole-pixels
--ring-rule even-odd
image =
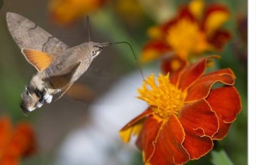
[[[26,122],[11,128],[7,117],[0,119],[0,164],[16,165],[23,156],[35,151],[35,140],[32,128]]]

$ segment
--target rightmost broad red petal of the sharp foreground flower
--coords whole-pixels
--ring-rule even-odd
[[[236,120],[242,105],[237,89],[234,86],[224,86],[212,89],[206,101],[218,115],[220,129],[214,136],[222,139],[227,134],[230,123]]]

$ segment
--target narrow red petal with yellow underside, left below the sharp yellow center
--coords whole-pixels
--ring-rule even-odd
[[[140,115],[138,115],[137,117],[135,117],[135,119],[133,119],[131,122],[129,122],[128,124],[126,124],[120,131],[119,131],[119,135],[122,138],[124,143],[128,143],[130,141],[131,135],[132,134],[137,134],[138,133],[138,129],[140,129],[139,127],[141,126],[140,121],[152,114],[152,110],[150,108],[147,108],[144,112],[142,112]]]

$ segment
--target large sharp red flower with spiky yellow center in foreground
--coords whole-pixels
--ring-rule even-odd
[[[138,89],[139,99],[150,106],[120,130],[128,143],[138,135],[137,146],[145,164],[183,164],[207,154],[221,140],[241,110],[241,99],[233,86],[231,69],[203,75],[207,62],[203,58],[178,72],[163,76],[158,84],[154,75]],[[215,83],[223,86],[212,88]]]

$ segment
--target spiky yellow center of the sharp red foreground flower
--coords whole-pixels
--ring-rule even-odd
[[[152,106],[154,113],[161,119],[166,119],[172,114],[178,114],[184,104],[186,92],[182,92],[169,82],[169,74],[159,74],[155,82],[154,74],[147,77],[138,89],[138,98]]]

